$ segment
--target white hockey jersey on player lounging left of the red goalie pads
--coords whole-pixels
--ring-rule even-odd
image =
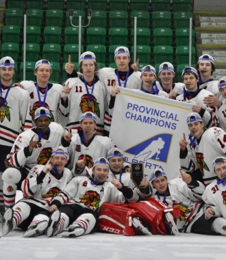
[[[129,199],[129,202],[136,202],[137,196]],[[102,185],[95,185],[89,177],[74,177],[65,189],[53,200],[58,200],[61,205],[64,203],[78,204],[81,207],[99,212],[103,203],[125,203],[125,196],[118,191],[110,182]]]

